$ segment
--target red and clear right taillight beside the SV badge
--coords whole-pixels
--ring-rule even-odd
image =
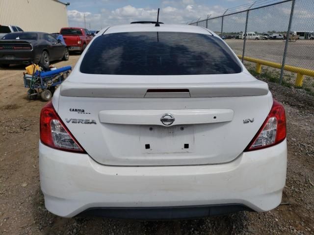
[[[286,114],[282,104],[274,100],[262,127],[244,151],[266,148],[286,139]]]

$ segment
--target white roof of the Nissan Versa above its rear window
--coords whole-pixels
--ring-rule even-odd
[[[155,24],[119,24],[101,31],[102,34],[104,32],[105,34],[122,32],[187,32],[215,35],[214,32],[204,27],[187,24],[160,24],[159,27],[155,26]]]

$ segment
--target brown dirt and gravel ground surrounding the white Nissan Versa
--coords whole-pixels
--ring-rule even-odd
[[[77,59],[71,55],[55,65],[74,66]],[[45,102],[27,100],[23,71],[23,66],[0,70],[0,235],[314,234],[314,97],[303,90],[269,83],[288,119],[287,183],[278,208],[180,221],[69,219],[44,206],[38,140]]]

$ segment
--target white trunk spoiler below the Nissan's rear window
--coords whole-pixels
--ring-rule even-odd
[[[154,91],[152,94],[151,91]],[[160,92],[158,92],[160,90]],[[169,91],[169,92],[168,92]],[[178,92],[179,91],[179,92]],[[268,94],[268,85],[259,80],[248,82],[219,82],[191,84],[142,84],[142,83],[79,83],[65,81],[62,96],[117,97],[117,98],[179,98],[226,97]]]

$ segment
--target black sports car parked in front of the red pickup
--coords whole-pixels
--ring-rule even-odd
[[[48,67],[61,59],[69,59],[69,49],[48,33],[16,32],[0,39],[0,67],[31,63]]]

